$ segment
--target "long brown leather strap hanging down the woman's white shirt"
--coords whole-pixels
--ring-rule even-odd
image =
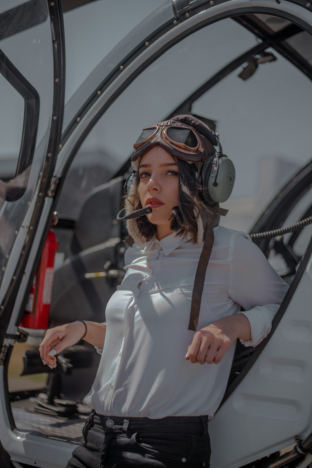
[[[197,329],[201,296],[203,293],[204,283],[205,283],[206,269],[207,269],[207,265],[209,262],[212,249],[213,249],[213,228],[208,223],[203,250],[201,251],[199,262],[197,265],[193,293],[192,293],[190,323],[189,323],[189,328],[188,328],[189,330],[192,330],[192,331],[196,331]]]

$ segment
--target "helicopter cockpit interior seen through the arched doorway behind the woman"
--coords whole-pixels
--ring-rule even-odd
[[[234,39],[227,48],[228,37]],[[214,41],[219,47],[211,48],[208,53],[207,44]],[[197,57],[191,53],[194,44],[199,48]],[[300,133],[300,126],[307,127],[305,116],[311,108],[311,99],[306,95],[302,99],[300,94],[300,88],[307,88],[312,80],[311,45],[311,36],[306,31],[281,17],[260,13],[233,16],[202,28],[172,46],[121,93],[86,136],[64,177],[56,207],[58,219],[53,227],[60,247],[50,327],[77,319],[105,321],[106,303],[124,273],[126,228],[123,222],[117,223],[116,214],[129,173],[131,144],[146,123],[147,109],[149,123],[190,112],[206,118],[216,131],[220,128],[223,147],[231,153],[234,162],[236,158],[237,172],[241,169],[236,181],[241,187],[236,195],[240,201],[243,190],[250,194],[255,184],[255,179],[248,174],[259,171],[256,156],[270,154],[273,159],[280,158],[282,166],[283,152],[288,146],[285,159],[292,165],[282,183],[280,180],[277,183],[278,177],[272,178],[269,190],[264,190],[264,185],[262,197],[257,200],[250,197],[252,205],[248,218],[243,221],[235,211],[239,203],[231,205],[229,201],[228,206],[226,203],[224,207],[230,207],[230,212],[221,220],[224,226],[235,229],[239,225],[241,230],[255,234],[312,216],[310,139],[306,131]],[[220,50],[224,53],[220,54]],[[198,57],[207,54],[209,60],[198,63]],[[203,80],[203,76],[208,78]],[[284,76],[283,83],[280,76]],[[178,80],[179,87],[175,86]],[[294,106],[302,111],[290,113],[285,125],[285,110]],[[248,122],[250,116],[255,116],[252,124]],[[248,139],[234,129],[235,120],[240,122],[240,129],[247,129]],[[72,125],[77,125],[77,121]],[[263,130],[259,132],[261,125]],[[300,151],[298,139],[294,143],[291,132],[287,131],[289,127],[293,133],[300,133]],[[253,146],[250,139],[255,140]],[[104,140],[100,150],[92,149],[92,142],[100,146]],[[266,172],[269,164],[263,160],[265,181],[271,176]],[[312,227],[307,225],[284,236],[263,237],[255,242],[291,284],[311,233]],[[47,372],[37,351],[41,338],[32,336],[31,339],[29,343],[33,346],[23,355],[18,379],[42,375],[42,385],[17,390],[10,385],[9,369],[9,398],[15,427],[77,444],[87,413],[81,402],[92,384],[99,354],[93,347],[79,343],[61,353],[57,369]],[[242,378],[242,369],[252,365],[255,350],[237,345],[226,398]]]

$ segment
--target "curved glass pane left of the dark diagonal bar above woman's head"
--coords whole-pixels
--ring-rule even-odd
[[[105,177],[109,178],[133,153],[133,144],[143,128],[165,120],[186,96],[254,45],[255,37],[230,19],[201,29],[174,45],[113,102],[85,139],[72,168],[79,160],[82,173],[92,168],[95,158],[99,158],[105,182]],[[209,113],[213,119],[213,112],[208,111],[205,116]],[[82,197],[87,195],[85,189],[84,184],[78,187],[70,171],[62,190],[62,193],[66,191],[66,196],[60,198],[57,210],[67,217],[74,213],[76,219],[83,204]]]

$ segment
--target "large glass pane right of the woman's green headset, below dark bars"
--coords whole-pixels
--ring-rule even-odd
[[[223,151],[236,180],[226,227],[248,231],[284,183],[312,158],[311,81],[268,49],[277,60],[260,64],[248,80],[228,75],[193,105],[217,120]]]

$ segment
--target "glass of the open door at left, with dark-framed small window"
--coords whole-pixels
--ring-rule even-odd
[[[34,210],[50,135],[53,55],[46,1],[0,5],[0,300]],[[14,247],[14,256],[11,256]]]

